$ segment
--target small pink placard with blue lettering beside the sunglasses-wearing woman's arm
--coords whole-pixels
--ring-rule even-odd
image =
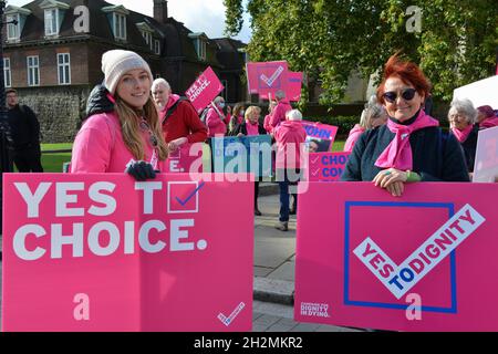
[[[335,181],[344,170],[350,153],[310,153],[310,181]]]

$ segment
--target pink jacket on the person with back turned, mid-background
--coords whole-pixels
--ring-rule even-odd
[[[286,121],[273,133],[278,146],[276,168],[299,168],[307,139],[307,132],[301,122]]]

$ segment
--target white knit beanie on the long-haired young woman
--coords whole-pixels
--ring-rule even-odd
[[[102,55],[102,72],[105,75],[105,88],[112,95],[116,92],[121,76],[134,69],[144,69],[151,79],[154,79],[147,62],[137,53],[123,50],[112,50]]]

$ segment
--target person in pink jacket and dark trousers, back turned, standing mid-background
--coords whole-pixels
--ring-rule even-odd
[[[305,150],[307,132],[298,110],[287,112],[286,121],[274,129],[277,140],[276,176],[280,189],[280,217],[276,226],[281,231],[289,230],[289,185],[297,184],[301,174],[301,155]],[[294,196],[297,205],[298,195]]]

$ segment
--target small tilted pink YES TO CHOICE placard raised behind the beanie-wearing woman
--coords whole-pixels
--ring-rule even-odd
[[[200,113],[224,88],[218,76],[209,66],[185,92],[185,95],[190,100],[197,113]]]

